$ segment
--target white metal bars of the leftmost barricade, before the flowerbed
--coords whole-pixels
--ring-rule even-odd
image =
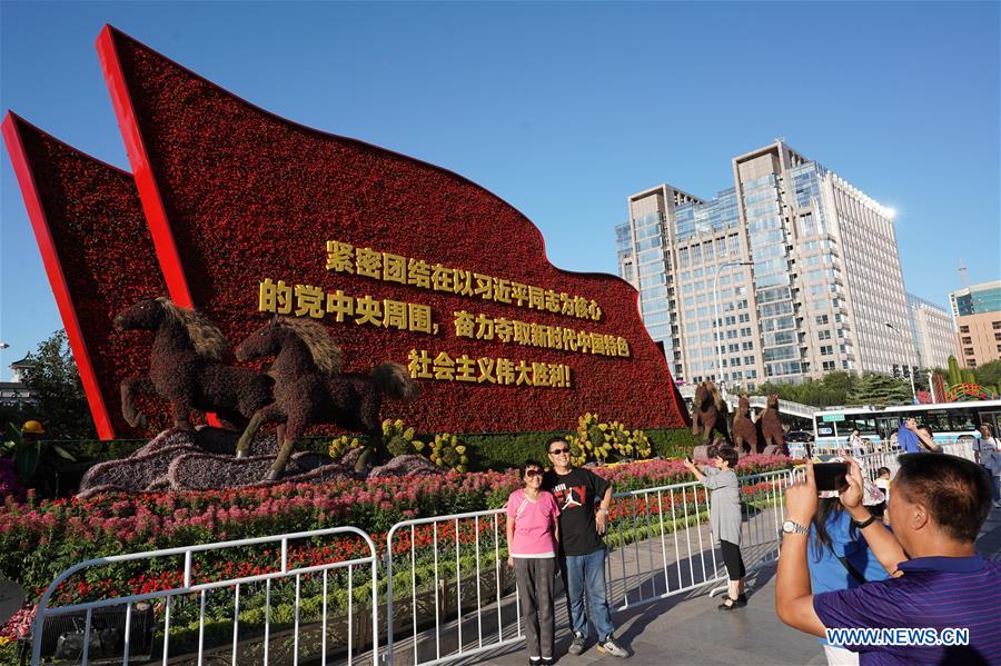
[[[289,566],[289,543],[296,541],[300,539],[323,539],[323,538],[331,538],[339,536],[356,536],[364,540],[365,546],[367,546],[368,556],[361,558],[355,558],[349,560],[338,560],[338,561],[327,561],[323,564],[315,564],[311,566],[300,566],[300,567],[290,567]],[[194,557],[197,554],[205,554],[211,551],[219,551],[232,548],[245,548],[250,546],[260,546],[265,544],[277,544],[280,545],[280,550],[276,553],[278,555],[277,566],[278,569],[265,574],[257,574],[250,576],[240,576],[237,578],[227,578],[221,580],[210,580],[205,583],[196,583],[194,577],[196,576],[196,566],[194,563]],[[60,586],[69,580],[73,575],[86,571],[89,569],[95,569],[97,567],[108,566],[108,565],[121,565],[123,563],[137,561],[137,560],[150,560],[150,566],[152,563],[159,561],[162,566],[171,560],[176,561],[176,558],[184,558],[182,565],[182,585],[178,587],[171,587],[169,589],[158,589],[145,594],[133,594],[129,596],[122,597],[111,597],[103,598],[93,602],[70,604],[67,606],[54,606],[50,607],[49,602],[52,598],[52,595],[60,588]],[[163,561],[166,560],[166,563]],[[262,646],[262,657],[264,663],[269,663],[269,635],[271,628],[271,589],[272,581],[285,581],[287,579],[295,580],[295,616],[294,616],[294,633],[293,633],[293,663],[298,664],[299,658],[299,635],[300,635],[300,583],[304,577],[311,577],[314,575],[323,576],[323,602],[321,602],[321,630],[320,630],[320,662],[323,664],[327,663],[327,620],[328,620],[328,574],[335,569],[346,569],[347,570],[347,663],[351,664],[355,658],[354,650],[357,649],[358,646],[353,645],[353,636],[354,636],[354,576],[353,571],[355,567],[360,567],[369,565],[371,567],[371,655],[373,663],[375,663],[375,655],[378,654],[378,603],[377,603],[377,592],[378,592],[378,557],[376,554],[375,544],[371,540],[371,537],[368,536],[365,531],[356,528],[356,527],[335,527],[329,529],[318,529],[314,531],[301,531],[295,534],[284,534],[284,535],[275,535],[268,537],[257,537],[250,539],[242,540],[231,540],[231,541],[219,541],[215,544],[200,544],[196,546],[186,546],[179,548],[168,548],[162,550],[151,550],[148,553],[132,553],[128,555],[112,555],[109,557],[101,557],[96,559],[89,559],[86,561],[81,561],[79,564],[73,565],[72,567],[62,571],[56,579],[49,585],[46,589],[44,594],[42,594],[41,599],[38,605],[38,612],[34,618],[34,624],[32,627],[32,653],[31,653],[31,664],[37,665],[41,663],[41,649],[42,649],[42,640],[43,640],[43,632],[46,626],[46,619],[57,616],[66,616],[66,615],[85,615],[83,622],[83,634],[82,634],[82,644],[81,644],[81,654],[79,658],[80,663],[86,666],[89,659],[89,650],[91,644],[91,620],[92,615],[96,609],[100,608],[109,608],[112,606],[125,606],[125,645],[121,655],[121,663],[128,664],[130,657],[130,628],[132,620],[132,608],[137,604],[149,603],[153,600],[160,600],[162,603],[163,609],[163,642],[162,642],[162,663],[166,666],[168,659],[170,658],[170,620],[171,620],[171,610],[175,606],[175,600],[177,598],[181,598],[182,600],[188,595],[196,595],[198,597],[199,603],[199,614],[198,614],[198,652],[197,657],[194,655],[185,655],[185,657],[190,657],[192,662],[197,660],[199,666],[202,664],[202,659],[205,656],[205,624],[206,624],[206,602],[207,596],[210,592],[214,590],[224,590],[226,588],[232,588],[232,603],[234,603],[234,613],[232,613],[232,657],[231,662],[236,666],[238,664],[238,647],[239,647],[239,624],[240,624],[240,587],[255,585],[264,581],[265,584],[265,618],[264,618],[264,646]],[[115,657],[117,659],[117,657]]]

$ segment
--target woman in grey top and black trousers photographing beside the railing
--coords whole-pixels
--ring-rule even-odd
[[[723,563],[730,575],[727,596],[720,604],[723,610],[743,608],[747,605],[744,595],[744,558],[741,557],[741,485],[733,468],[739,455],[736,449],[717,444],[713,447],[715,467],[698,469],[692,458],[685,458],[685,467],[712,490],[710,495],[710,525],[720,540]]]

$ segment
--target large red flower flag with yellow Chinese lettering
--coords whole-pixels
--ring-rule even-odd
[[[77,250],[116,248],[120,264],[69,269],[66,255],[63,268],[79,272],[70,282],[100,285],[103,309],[93,316],[103,325],[159,282],[151,246],[166,295],[234,344],[274,315],[304,317],[340,346],[344,371],[404,365],[422,395],[383,416],[418,431],[571,429],[592,410],[632,427],[684,425],[636,290],[552,266],[538,229],[495,195],[278,118],[110,27],[98,53],[148,223],[148,233],[127,235],[98,225]],[[117,187],[73,205],[100,207]],[[67,291],[77,289],[86,291]],[[63,320],[82,317],[76,297],[68,301]],[[123,376],[117,368],[135,366],[133,355],[100,347],[99,360],[80,364],[85,382],[88,372]],[[117,386],[93,384],[98,418]]]

